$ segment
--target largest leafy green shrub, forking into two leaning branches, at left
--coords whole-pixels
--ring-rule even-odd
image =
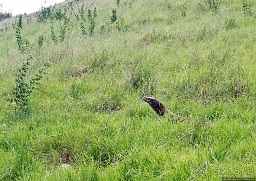
[[[39,81],[43,78],[43,75],[46,74],[46,70],[50,67],[49,63],[43,64],[38,74],[33,77],[29,83],[26,82],[27,70],[30,65],[29,61],[32,60],[32,55],[29,55],[26,61],[23,62],[21,68],[18,69],[16,73],[15,86],[12,88],[12,93],[8,95],[7,101],[10,102],[10,105],[14,109],[14,115],[17,111],[20,111],[22,107],[27,106],[30,99],[32,91],[37,90],[36,85],[39,84]]]

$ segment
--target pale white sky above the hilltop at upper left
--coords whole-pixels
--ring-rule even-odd
[[[55,3],[61,3],[65,0],[0,0],[0,10],[3,12],[11,11],[13,16],[19,14],[30,14],[36,12],[41,6],[48,7]]]

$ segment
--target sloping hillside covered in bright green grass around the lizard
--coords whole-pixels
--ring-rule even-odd
[[[35,44],[25,80],[51,67],[16,115],[6,98],[29,53],[18,50],[14,19],[0,22],[0,180],[255,177],[256,3],[252,16],[242,0],[217,11],[203,0],[84,3],[97,9],[94,34],[73,14],[63,42],[56,19],[55,43],[49,19],[23,16],[23,43]],[[124,29],[111,24],[113,7]],[[159,117],[143,96],[188,119]],[[43,139],[51,135],[64,136]]]

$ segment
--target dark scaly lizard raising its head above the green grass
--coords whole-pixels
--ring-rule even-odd
[[[163,116],[164,114],[171,114],[173,118],[176,118],[178,120],[186,119],[169,111],[158,99],[155,99],[153,97],[143,97],[143,100],[147,102],[159,116]]]

